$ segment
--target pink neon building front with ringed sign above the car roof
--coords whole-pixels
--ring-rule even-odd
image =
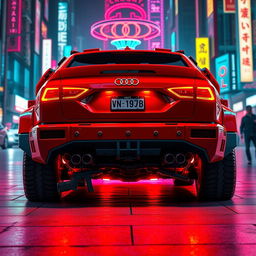
[[[104,20],[91,26],[103,48],[164,47],[163,0],[105,0]]]

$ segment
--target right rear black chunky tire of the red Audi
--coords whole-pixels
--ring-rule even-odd
[[[222,161],[207,163],[196,181],[197,196],[200,200],[230,200],[236,185],[235,151]]]

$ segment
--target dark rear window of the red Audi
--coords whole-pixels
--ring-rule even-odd
[[[154,52],[133,53],[87,53],[77,55],[68,67],[108,65],[108,64],[160,64],[187,67],[187,63],[180,55]]]

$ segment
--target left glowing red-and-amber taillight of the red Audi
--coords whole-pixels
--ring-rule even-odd
[[[79,87],[63,87],[62,99],[77,99],[85,94],[89,89]],[[42,94],[41,101],[56,101],[60,100],[59,88],[46,88]]]

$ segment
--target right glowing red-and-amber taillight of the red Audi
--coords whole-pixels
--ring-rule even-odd
[[[210,87],[196,87],[194,92],[193,86],[173,87],[168,88],[168,91],[181,99],[193,99],[196,95],[198,100],[215,100],[214,93]]]

